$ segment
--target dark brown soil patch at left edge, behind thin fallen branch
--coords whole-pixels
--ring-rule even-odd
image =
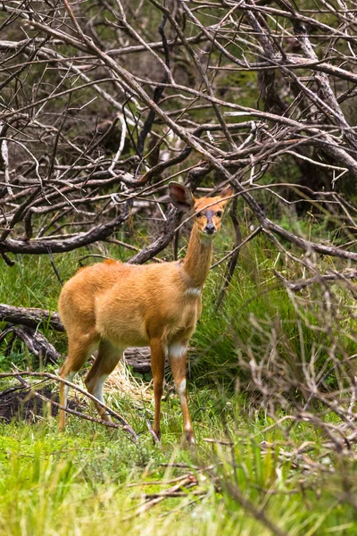
[[[51,389],[39,389],[39,392],[49,401],[36,397],[31,389],[23,387],[11,387],[0,392],[0,421],[10,423],[15,421],[37,421],[48,415],[58,415],[58,407],[51,404],[51,400],[59,402],[58,392]],[[69,399],[68,406],[76,411],[81,411],[80,405],[75,400]]]

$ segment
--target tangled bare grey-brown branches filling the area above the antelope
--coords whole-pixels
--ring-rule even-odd
[[[334,187],[357,177],[355,12],[300,4],[3,4],[4,260],[109,239],[127,220],[123,205],[161,205],[159,239],[133,259],[145,262],[179,223],[165,211],[167,180],[187,173],[196,188],[210,172],[215,186],[236,185],[274,237],[354,260],[355,214]],[[294,166],[295,184],[270,179],[280,163]],[[261,188],[287,207],[338,214],[343,252],[271,222]]]

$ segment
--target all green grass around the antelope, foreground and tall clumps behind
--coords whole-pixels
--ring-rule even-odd
[[[228,234],[220,237],[217,258],[229,243]],[[95,248],[91,251],[96,253]],[[118,248],[107,253],[127,255]],[[54,255],[63,280],[76,271],[83,255],[83,251]],[[49,259],[27,255],[16,260],[14,267],[3,265],[0,272],[0,301],[55,311],[60,284]],[[58,434],[51,416],[33,424],[0,423],[0,534],[357,533],[354,447],[337,455],[328,451],[321,426],[292,425],[289,404],[302,398],[296,389],[284,398],[285,406],[277,406],[278,389],[283,390],[288,377],[300,378],[303,364],[312,359],[317,373],[324,366],[332,370],[324,389],[344,383],[343,372],[332,369],[336,361],[331,361],[329,343],[336,342],[337,360],[353,353],[354,304],[344,289],[334,286],[334,314],[327,330],[321,322],[320,290],[289,297],[277,284],[274,269],[284,272],[286,279],[302,277],[301,269],[274,252],[261,235],[242,251],[219,311],[215,298],[224,268],[210,274],[203,316],[192,340],[195,352],[188,383],[196,448],[188,449],[182,442],[175,396],[162,402],[161,448],[153,445],[145,424],[146,418],[152,418],[152,402],[137,402],[120,392],[107,394],[106,400],[139,433],[137,445],[121,431],[71,416],[64,434]],[[323,314],[324,322],[329,322],[328,313]],[[64,355],[65,336],[46,325],[40,329]],[[9,339],[0,346],[0,370],[9,371],[12,364],[38,369],[21,342],[13,344],[10,355],[5,352]],[[273,401],[265,401],[253,389],[252,358],[272,373],[264,384],[270,381],[277,395]],[[46,370],[53,368],[46,365]],[[3,381],[1,389],[8,383]],[[269,404],[274,406],[274,419]],[[334,413],[316,407],[323,423],[340,423]],[[86,411],[95,415],[91,407]],[[226,445],[227,441],[231,444]],[[300,453],[302,446],[306,447]],[[187,466],[168,467],[170,463]],[[197,476],[195,488],[135,515],[143,493],[167,489],[170,484],[164,482],[189,471]],[[195,495],[197,490],[202,496]],[[130,515],[134,516],[125,521]]]

